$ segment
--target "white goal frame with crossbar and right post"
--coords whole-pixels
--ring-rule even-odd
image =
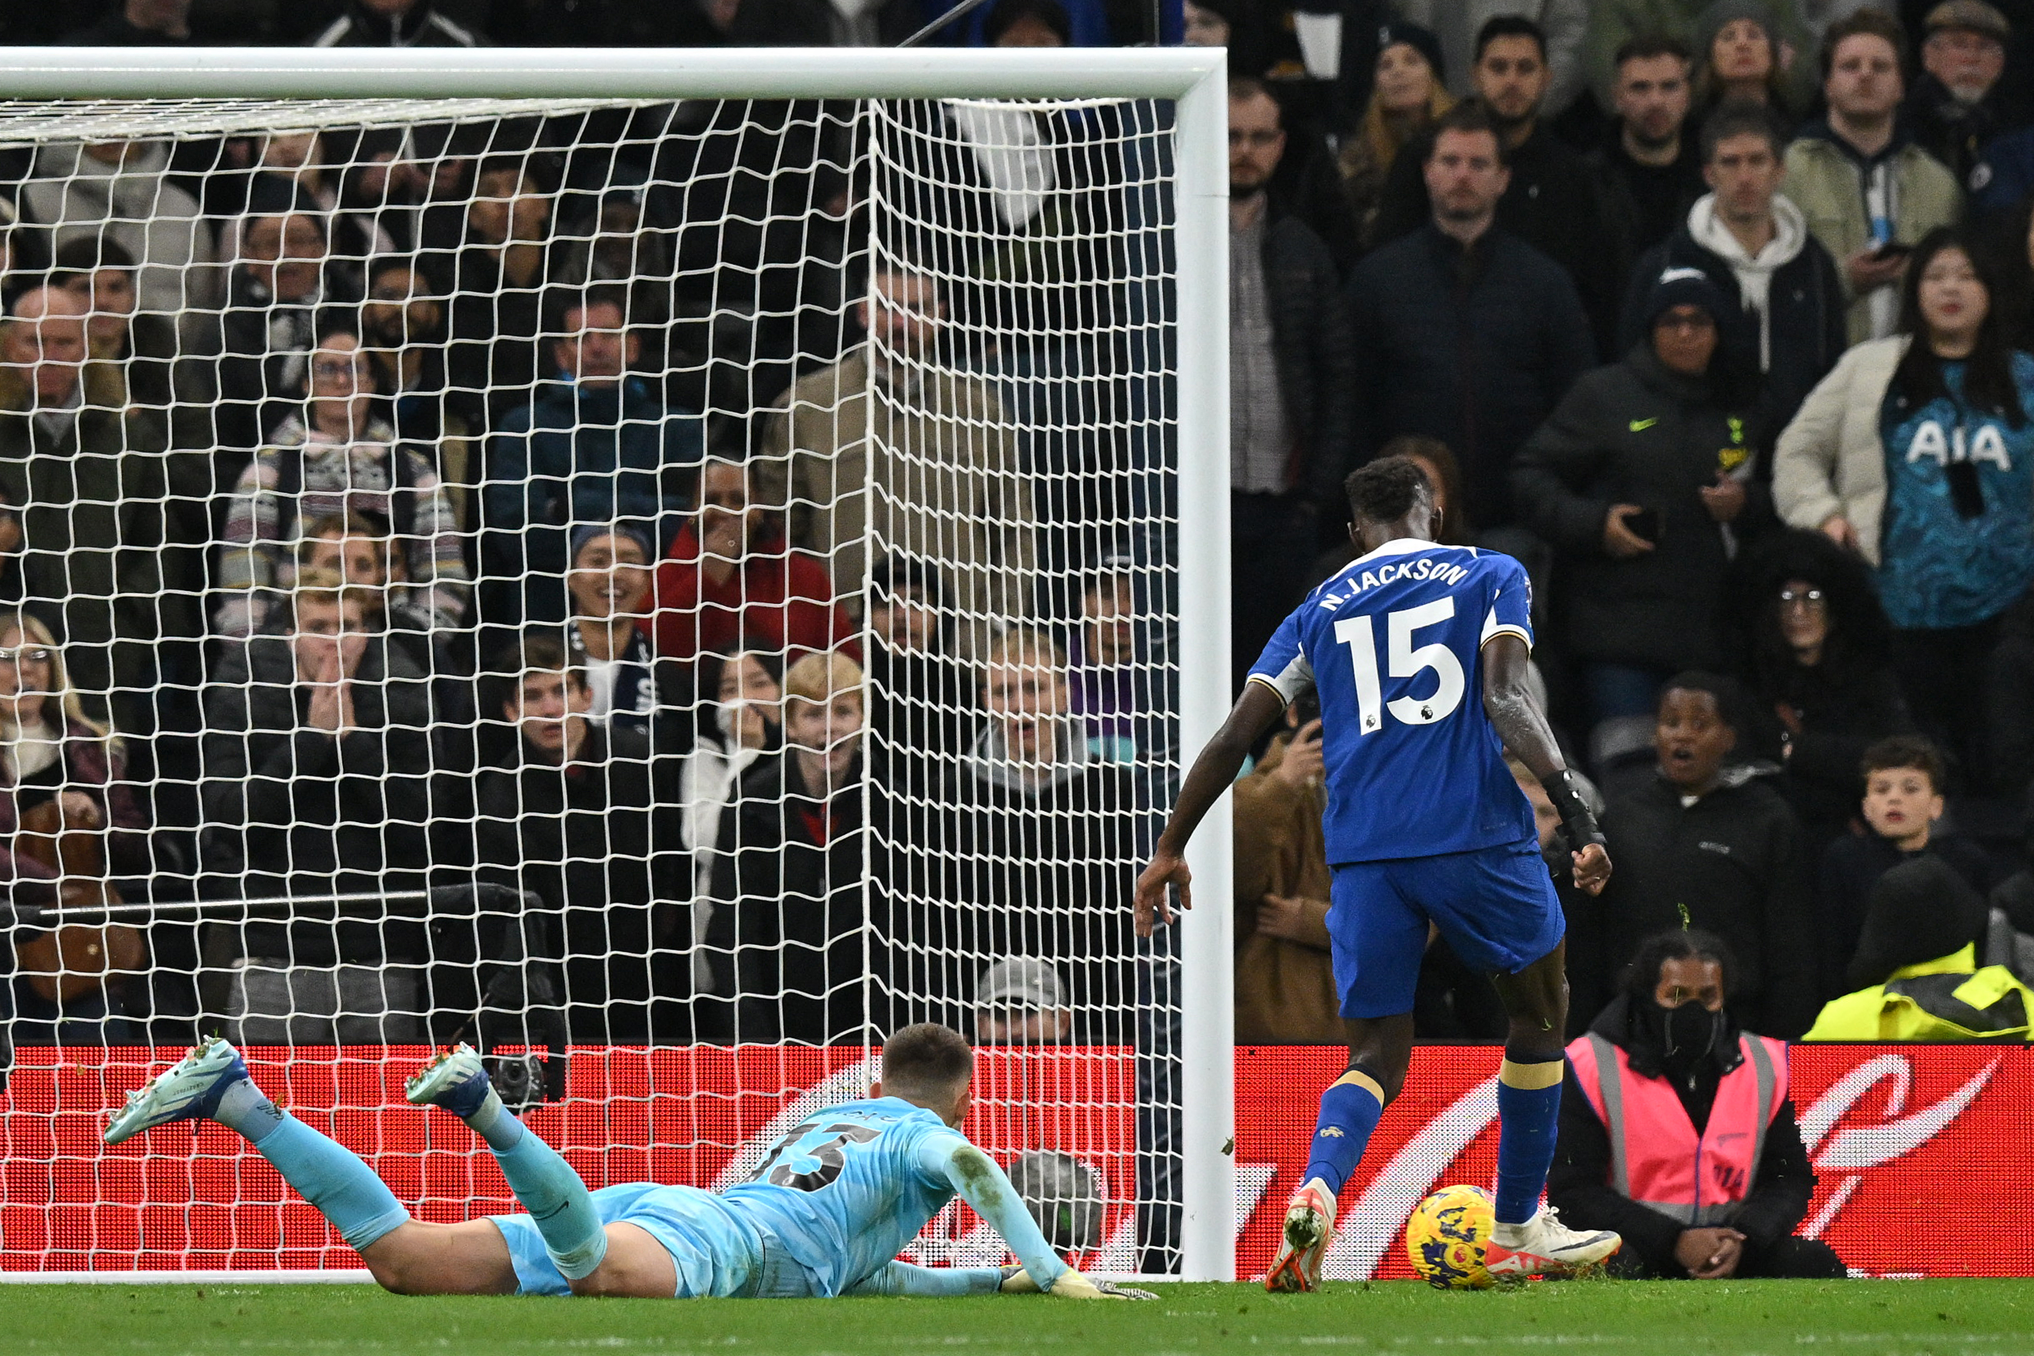
[[[1182,771],[1229,714],[1227,53],[1163,49],[104,49],[0,47],[8,100],[1174,100]],[[1188,860],[1178,923],[1182,1277],[1235,1281],[1235,947],[1229,797]],[[1129,907],[1129,901],[1125,901]],[[161,1273],[185,1279],[191,1273]],[[236,1283],[305,1273],[230,1273]],[[366,1279],[362,1273],[323,1273]],[[8,1281],[134,1273],[22,1273]]]

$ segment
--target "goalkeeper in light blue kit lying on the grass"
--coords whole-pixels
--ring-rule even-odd
[[[271,1102],[224,1039],[157,1075],[106,1128],[118,1145],[171,1120],[218,1120],[283,1179],[399,1295],[635,1295],[647,1299],[805,1295],[980,1295],[1149,1299],[1066,1267],[1003,1169],[956,1126],[968,1114],[974,1051],[946,1027],[905,1027],[883,1047],[862,1102],[818,1112],[744,1181],[716,1195],[629,1183],[588,1191],[555,1149],[523,1128],[470,1047],[409,1080],[486,1141],[529,1214],[466,1224],[411,1220],[366,1163]],[[960,1195],[1023,1267],[925,1269],[897,1252]]]

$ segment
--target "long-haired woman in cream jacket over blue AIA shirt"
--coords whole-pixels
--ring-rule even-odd
[[[2034,585],[2034,356],[2008,340],[2006,295],[1967,232],[1924,236],[1900,333],[1845,354],[1774,453],[1780,514],[1873,567],[1908,705],[1979,783],[1973,675]]]

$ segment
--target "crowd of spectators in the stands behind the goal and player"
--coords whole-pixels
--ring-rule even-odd
[[[944,10],[89,8],[0,43],[877,45]],[[934,41],[1180,39],[1149,22],[999,0]],[[1416,455],[1442,537],[1532,573],[1607,803],[1576,1033],[1678,915],[1747,1029],[1802,1035],[1932,960],[1861,921],[1918,856],[1991,897],[1928,945],[2034,933],[2034,4],[1186,0],[1184,41],[1233,73],[1237,677],[1349,561],[1342,476]],[[871,276],[826,116],[616,118],[598,157],[537,118],[0,150],[14,1041],[443,1039],[500,998],[486,964],[447,996],[439,921],[476,917],[468,972],[543,962],[494,1004],[529,1037],[860,1039],[873,992],[1155,1049],[1119,1012],[1182,752],[1165,608],[1139,543],[1070,545],[1023,356],[942,337],[1023,301]],[[1021,244],[989,179],[932,201]],[[734,228],[789,199],[836,207]],[[1019,596],[1033,563],[1072,585]],[[1310,722],[1237,793],[1249,1041],[1338,1039]],[[1875,817],[1865,766],[1942,801]],[[37,925],[175,899],[210,909]],[[1420,1031],[1503,1035],[1444,945]]]

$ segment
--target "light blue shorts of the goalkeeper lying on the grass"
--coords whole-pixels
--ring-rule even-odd
[[[761,1230],[736,1224],[720,1197],[698,1187],[631,1181],[594,1191],[602,1224],[635,1224],[671,1254],[675,1299],[799,1299],[816,1295],[810,1273]],[[527,1214],[488,1216],[508,1244],[517,1295],[570,1295]]]

